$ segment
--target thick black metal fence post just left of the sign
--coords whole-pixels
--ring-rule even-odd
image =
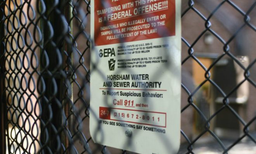
[[[44,22],[41,24],[41,30],[43,32],[43,37],[44,37],[44,44],[45,46],[45,51],[47,53],[48,57],[43,57],[43,61],[48,58],[49,66],[47,68],[48,71],[51,72],[52,76],[49,76],[48,74],[43,75],[43,79],[45,81],[45,94],[44,96],[49,99],[52,97],[52,80],[55,80],[56,85],[54,88],[57,89],[57,93],[55,95],[56,99],[51,99],[49,102],[46,102],[45,100],[42,100],[42,120],[43,121],[48,121],[48,114],[49,110],[48,107],[54,111],[52,113],[52,118],[51,118],[51,125],[47,126],[42,126],[41,129],[45,129],[45,127],[48,130],[48,141],[47,144],[48,147],[50,147],[52,152],[65,152],[69,154],[71,152],[71,148],[69,147],[69,140],[67,138],[67,135],[64,133],[65,130],[63,130],[63,126],[66,125],[65,123],[69,123],[68,126],[72,126],[70,123],[72,121],[72,118],[69,118],[68,121],[66,121],[63,118],[62,112],[64,111],[65,116],[67,117],[70,115],[70,108],[71,106],[69,105],[69,101],[73,100],[73,88],[72,85],[69,85],[69,87],[65,87],[64,83],[69,80],[69,77],[71,76],[71,73],[69,73],[69,67],[72,66],[72,38],[67,37],[65,26],[62,24],[64,23],[63,18],[61,15],[64,15],[67,22],[71,20],[71,15],[72,15],[72,7],[70,5],[67,5],[68,3],[71,2],[71,0],[63,0],[60,3],[58,3],[55,6],[55,9],[57,9],[60,12],[55,12],[52,11],[51,8],[54,5],[54,2],[52,0],[44,0],[45,5],[46,5],[46,16],[48,17],[48,21],[50,21],[50,24],[52,26],[52,29],[54,31],[54,35],[52,36],[49,31],[48,23]],[[61,13],[61,14],[60,14]],[[72,22],[69,23],[69,33],[72,34]],[[60,36],[63,36],[63,39],[59,39]],[[52,37],[52,38],[50,38]],[[49,43],[48,40],[49,38],[51,39],[52,43],[55,44],[53,45],[52,43]],[[66,39],[69,39],[70,42],[66,43]],[[47,42],[47,44],[45,44]],[[58,50],[58,51],[57,51]],[[61,53],[60,55],[57,54],[57,52]],[[65,53],[66,52],[66,53]],[[41,51],[41,56],[42,56],[42,51]],[[58,65],[58,60],[56,59],[61,59],[62,64],[59,68],[56,68]],[[42,62],[40,62],[42,64]],[[44,65],[44,64],[43,64]],[[41,67],[42,70],[42,67]],[[44,73],[43,73],[44,74]],[[65,77],[65,75],[66,77]],[[66,94],[66,91],[69,91],[69,94]],[[66,96],[67,95],[67,96]],[[60,107],[60,103],[62,104],[62,108]],[[52,126],[55,127],[55,129],[58,132],[56,134],[55,130],[52,128]],[[45,140],[44,135],[41,135],[41,139]],[[59,146],[59,142],[55,142],[57,140],[57,136],[60,137],[61,143],[64,144],[64,146],[67,149],[56,149],[56,147],[61,147]],[[43,141],[45,142],[45,141]]]

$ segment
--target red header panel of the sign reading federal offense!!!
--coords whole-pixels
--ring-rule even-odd
[[[94,14],[95,46],[175,36],[175,0],[95,0]]]

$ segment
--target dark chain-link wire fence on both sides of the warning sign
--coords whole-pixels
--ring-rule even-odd
[[[206,135],[214,138],[219,152],[223,153],[228,153],[244,138],[256,145],[256,138],[252,135],[255,110],[246,110],[251,113],[246,118],[230,103],[234,94],[241,93],[239,88],[244,84],[250,87],[249,100],[256,92],[253,48],[256,1],[242,3],[247,7],[240,8],[241,2],[231,0],[182,2],[181,86],[182,99],[187,101],[182,103],[181,114],[187,122],[182,122],[181,136],[185,146],[181,146],[180,153],[194,154],[194,145]],[[225,9],[235,13],[221,12]],[[228,19],[221,19],[224,16],[239,22],[232,24]],[[192,25],[194,21],[197,23]],[[197,35],[193,31],[198,32]],[[206,34],[214,39],[216,43],[212,46],[218,50],[218,55],[207,66],[197,55],[200,51],[210,50],[205,46],[200,49],[200,42]],[[241,52],[249,56],[250,63],[246,66],[241,57],[237,57],[242,55],[234,47],[237,43],[246,46],[242,50],[248,51]],[[225,59],[242,70],[242,79],[229,89],[221,86],[211,75],[214,67]],[[202,75],[203,80],[198,84],[193,83],[192,63],[199,66]],[[97,63],[93,65],[97,66]],[[90,137],[90,1],[2,0],[0,70],[2,153],[131,153],[95,144]],[[217,69],[214,74],[222,78],[227,75],[219,74]],[[233,78],[235,76],[228,79]],[[220,105],[209,112],[196,101],[207,84],[221,98]],[[255,99],[251,103],[255,106]],[[213,129],[216,117],[224,110],[232,113],[232,118],[239,121],[242,130],[229,145]],[[193,115],[197,120],[190,118]]]

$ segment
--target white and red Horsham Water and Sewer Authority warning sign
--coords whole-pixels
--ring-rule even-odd
[[[90,133],[137,153],[180,145],[181,1],[92,0]]]

